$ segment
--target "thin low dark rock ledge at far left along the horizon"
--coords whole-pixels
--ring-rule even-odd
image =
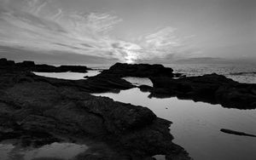
[[[86,66],[49,66],[49,65],[36,65],[33,61],[23,61],[15,63],[12,60],[0,59],[0,66],[3,68],[12,68],[19,71],[39,71],[39,72],[87,72],[91,70]]]

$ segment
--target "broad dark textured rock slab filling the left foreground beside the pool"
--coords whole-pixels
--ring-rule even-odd
[[[69,81],[0,69],[0,140],[19,139],[23,146],[41,146],[90,138],[108,144],[121,159],[153,159],[158,154],[190,159],[172,143],[171,122],[146,107],[89,94],[131,87],[113,77]]]

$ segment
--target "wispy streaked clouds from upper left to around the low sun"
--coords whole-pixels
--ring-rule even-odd
[[[56,1],[56,0],[55,0]],[[122,19],[108,13],[52,9],[53,0],[0,0],[0,44],[132,62],[189,53],[187,37],[165,27],[126,42],[111,35]],[[52,14],[49,14],[49,9]],[[59,52],[56,52],[59,53]],[[36,54],[36,53],[35,53]],[[172,56],[174,57],[174,56]]]

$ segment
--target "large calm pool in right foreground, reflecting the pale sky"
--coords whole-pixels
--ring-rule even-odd
[[[256,139],[224,134],[220,129],[234,129],[256,134],[256,110],[227,109],[192,100],[148,98],[139,89],[123,90],[119,94],[95,94],[113,100],[148,106],[158,116],[173,122],[171,132],[178,145],[196,160],[255,159]]]

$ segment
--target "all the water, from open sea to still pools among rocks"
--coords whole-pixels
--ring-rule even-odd
[[[102,69],[108,69],[111,65],[87,64],[95,71],[87,73],[40,73],[35,74],[45,77],[56,77],[63,79],[84,79],[84,76],[95,76]],[[204,74],[217,73],[230,77],[240,83],[256,83],[256,64],[164,64],[172,67],[174,72],[183,73],[187,77],[200,76]],[[152,83],[148,78],[125,77],[125,80],[135,85]],[[131,103],[136,106],[146,106],[158,117],[172,121],[170,132],[174,136],[173,142],[189,152],[190,157],[195,160],[254,160],[256,159],[256,138],[225,134],[220,129],[232,129],[256,134],[256,110],[239,110],[224,108],[221,105],[212,105],[205,102],[193,100],[179,100],[172,98],[152,98],[149,93],[141,92],[139,89],[121,90],[119,93],[93,94],[96,96],[106,96],[116,101]],[[6,157],[11,157],[17,152],[14,146],[0,144],[0,154],[5,153]],[[49,148],[54,151],[56,158],[61,154],[63,144],[52,144],[43,146],[40,151],[22,150],[24,157],[47,157]],[[86,146],[76,146],[75,144],[65,146],[66,150],[76,152],[77,150],[87,150]],[[10,148],[7,150],[6,148]],[[5,149],[5,150],[4,150]],[[37,149],[38,150],[38,149]],[[47,151],[45,151],[47,150]],[[2,151],[2,152],[1,152]],[[19,151],[19,150],[18,150]],[[58,154],[58,151],[60,154]],[[77,152],[79,152],[77,151]],[[44,153],[46,152],[46,153]],[[33,154],[32,154],[33,153]],[[19,152],[20,154],[20,152]],[[38,154],[40,154],[38,156]],[[72,159],[70,153],[62,159]],[[155,155],[158,160],[165,160],[164,155]],[[0,158],[1,159],[1,158]],[[4,159],[5,160],[5,159]]]

